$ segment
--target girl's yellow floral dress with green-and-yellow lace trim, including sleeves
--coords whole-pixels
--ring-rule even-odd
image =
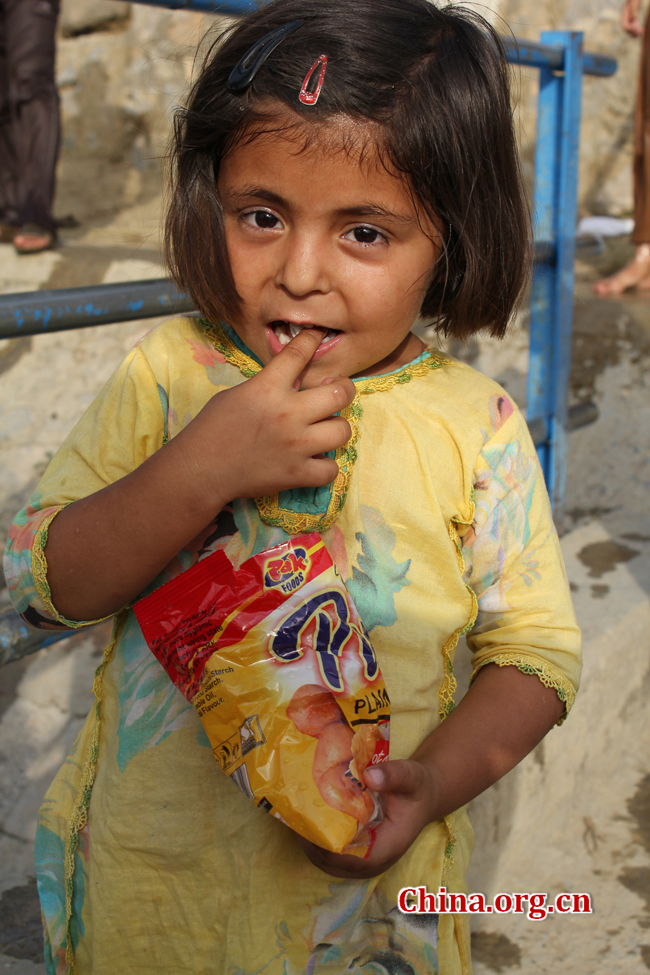
[[[197,319],[142,340],[12,526],[5,571],[25,619],[84,625],[57,613],[47,585],[47,528],[61,507],[132,471],[211,396],[259,369],[230,329]],[[353,436],[337,451],[334,485],[234,501],[146,592],[218,548],[237,565],[318,530],[384,675],[391,758],[410,756],[453,708],[463,633],[476,669],[536,674],[568,711],[580,637],[518,410],[491,380],[431,350],[355,382]],[[329,975],[353,960],[355,972],[471,971],[466,917],[396,906],[402,887],[465,890],[464,810],[429,825],[383,876],[337,880],[228,781],[129,609],[116,617],[95,691],[41,810],[50,975]]]

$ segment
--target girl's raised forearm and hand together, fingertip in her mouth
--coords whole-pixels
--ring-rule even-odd
[[[323,337],[304,328],[257,376],[216,393],[187,427],[130,474],[74,504],[48,534],[48,583],[71,620],[130,603],[224,505],[292,487],[328,484],[350,425],[349,379],[299,391]]]

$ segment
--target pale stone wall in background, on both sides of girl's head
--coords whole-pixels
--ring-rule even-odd
[[[587,49],[617,58],[613,78],[587,78],[580,165],[582,213],[632,208],[633,103],[640,42],[619,25],[620,0],[489,0],[505,32],[583,30]],[[58,213],[101,218],[159,190],[171,109],[182,100],[199,39],[224,18],[120,0],[63,0],[58,55],[63,149]],[[522,156],[531,176],[537,72],[517,71]]]

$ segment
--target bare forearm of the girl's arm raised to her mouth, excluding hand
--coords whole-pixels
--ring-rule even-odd
[[[91,620],[132,602],[230,498],[197,492],[180,441],[125,477],[65,508],[45,550],[52,602]]]

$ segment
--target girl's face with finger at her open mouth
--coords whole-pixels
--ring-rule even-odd
[[[301,151],[297,138],[267,133],[235,148],[219,173],[242,299],[231,324],[265,365],[299,329],[324,329],[303,387],[390,372],[419,355],[411,326],[439,253],[405,182],[343,151],[340,135],[327,126]]]

